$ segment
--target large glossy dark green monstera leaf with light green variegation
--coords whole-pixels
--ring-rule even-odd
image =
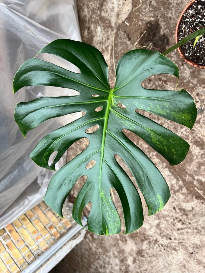
[[[142,87],[142,81],[154,74],[167,73],[179,77],[177,66],[159,52],[132,50],[119,60],[116,85],[110,89],[108,66],[101,52],[93,46],[60,39],[51,42],[39,53],[66,59],[76,65],[80,73],[43,60],[29,59],[15,75],[14,92],[23,86],[57,86],[75,89],[80,95],[42,97],[17,104],[15,121],[22,134],[25,136],[29,130],[57,116],[79,111],[84,111],[85,115],[46,135],[32,151],[32,160],[41,167],[55,170],[56,162],[71,144],[84,137],[90,141],[82,153],[53,175],[45,202],[63,217],[62,207],[67,195],[77,179],[87,175],[87,181],[73,206],[74,220],[82,225],[82,212],[91,202],[88,229],[96,234],[119,233],[121,221],[110,194],[110,189],[114,188],[122,204],[125,233],[137,230],[143,223],[142,202],[134,184],[115,160],[115,155],[118,154],[132,171],[149,215],[160,211],[170,197],[169,187],[157,167],[125,136],[123,129],[140,136],[171,165],[180,163],[186,157],[189,150],[186,141],[135,111],[142,109],[190,129],[193,127],[196,106],[185,90],[178,92]],[[125,107],[121,108],[119,103]],[[88,133],[87,129],[94,125],[99,128]],[[57,155],[49,166],[48,160],[54,151]],[[95,160],[95,165],[87,169],[91,160]]]

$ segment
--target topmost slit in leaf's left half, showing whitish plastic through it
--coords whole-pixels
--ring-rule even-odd
[[[46,61],[46,62],[52,62],[56,66],[60,66],[73,73],[77,73],[77,74],[80,73],[80,69],[77,66],[75,66],[72,62],[69,62],[59,56],[49,54],[49,53],[39,53],[35,58]]]

